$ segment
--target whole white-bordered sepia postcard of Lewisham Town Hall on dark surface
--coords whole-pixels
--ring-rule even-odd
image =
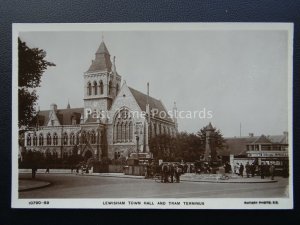
[[[12,47],[12,207],[293,208],[293,24],[24,23]]]

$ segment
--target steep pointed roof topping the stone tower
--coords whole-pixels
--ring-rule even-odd
[[[95,59],[92,60],[92,64],[87,72],[96,72],[96,71],[111,71],[111,60],[110,54],[107,50],[107,47],[104,41],[101,42],[99,48],[95,53]]]

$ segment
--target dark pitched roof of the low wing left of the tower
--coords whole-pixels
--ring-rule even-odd
[[[47,126],[50,111],[43,110],[38,113],[39,126]],[[72,116],[75,116],[76,124],[79,124],[82,113],[83,108],[58,109],[56,115],[61,125],[72,125]]]

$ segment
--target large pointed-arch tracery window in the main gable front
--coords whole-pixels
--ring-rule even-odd
[[[133,124],[130,113],[127,109],[120,110],[114,121],[114,142],[132,142]]]

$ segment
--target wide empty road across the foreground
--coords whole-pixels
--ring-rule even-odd
[[[20,174],[29,179],[31,174]],[[288,197],[288,179],[276,183],[157,183],[154,180],[75,174],[38,174],[51,186],[19,192],[19,198],[272,198]]]

